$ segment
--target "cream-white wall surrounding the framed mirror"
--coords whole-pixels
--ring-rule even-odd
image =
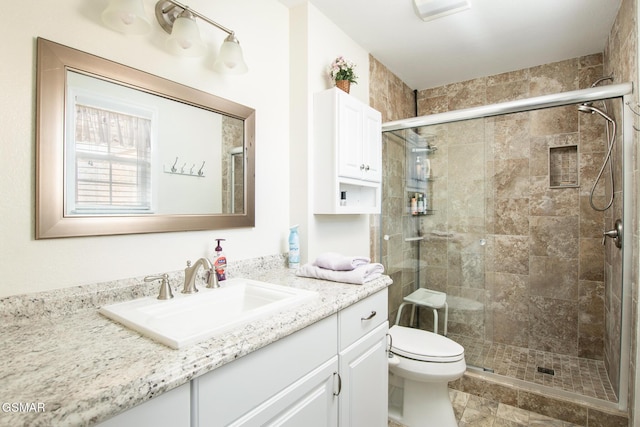
[[[289,26],[276,0],[191,0],[189,6],[236,31],[249,73],[220,76],[205,59],[166,53],[153,18],[146,36],[100,22],[106,0],[22,0],[3,6],[0,36],[0,297],[178,270],[211,255],[226,238],[229,262],[286,250],[289,225]],[[217,50],[225,33],[202,22]],[[36,37],[125,63],[255,108],[256,227],[206,232],[34,240]]]

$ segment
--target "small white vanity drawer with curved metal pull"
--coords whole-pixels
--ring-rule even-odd
[[[387,320],[387,289],[383,289],[338,313],[340,351]]]

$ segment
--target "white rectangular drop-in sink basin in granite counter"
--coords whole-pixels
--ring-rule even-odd
[[[212,338],[309,301],[317,292],[250,279],[228,279],[220,288],[174,293],[171,300],[146,297],[111,304],[100,313],[172,348]]]

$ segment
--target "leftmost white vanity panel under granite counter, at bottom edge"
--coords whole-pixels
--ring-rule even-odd
[[[189,383],[183,384],[97,425],[99,427],[189,427],[190,395]]]

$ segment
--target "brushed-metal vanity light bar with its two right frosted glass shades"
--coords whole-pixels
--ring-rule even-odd
[[[213,68],[223,74],[247,72],[248,68],[244,62],[240,42],[232,30],[175,0],[158,1],[156,3],[156,18],[160,26],[171,34],[167,40],[169,50],[180,56],[201,56],[206,51],[206,45],[200,38],[195,18],[202,19],[224,31],[228,36],[220,47]]]

